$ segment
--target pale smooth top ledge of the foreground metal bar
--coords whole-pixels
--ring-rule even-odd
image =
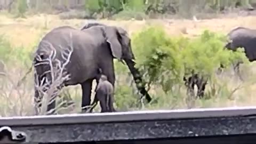
[[[0,125],[47,125],[151,121],[256,115],[256,107],[229,107],[181,110],[149,110],[117,113],[67,114],[50,116],[1,117]]]

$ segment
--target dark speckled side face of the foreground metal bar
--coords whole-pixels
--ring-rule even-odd
[[[166,138],[199,138],[256,134],[255,116],[166,119],[134,122],[12,126],[27,134],[26,141],[77,142]]]

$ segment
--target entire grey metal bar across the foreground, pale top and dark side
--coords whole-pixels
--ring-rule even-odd
[[[26,133],[23,143],[245,144],[256,142],[256,107],[2,117],[0,126]]]

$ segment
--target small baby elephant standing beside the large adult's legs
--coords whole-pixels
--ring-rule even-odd
[[[99,82],[95,90],[95,98],[92,103],[92,109],[100,101],[101,113],[114,112],[114,88],[113,85],[108,81],[107,76],[100,74]]]

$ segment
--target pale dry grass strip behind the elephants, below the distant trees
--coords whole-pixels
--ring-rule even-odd
[[[6,34],[15,45],[30,45],[34,43],[38,35],[43,35],[51,29],[63,25],[69,25],[76,28],[81,28],[83,23],[90,20],[69,19],[61,20],[57,15],[34,15],[27,19],[12,19],[5,15],[0,15],[0,34]],[[209,20],[129,20],[129,21],[113,21],[113,20],[99,20],[108,25],[121,26],[132,34],[150,24],[163,24],[167,33],[170,35],[181,35],[183,29],[186,29],[186,36],[196,36],[201,33],[203,29],[211,29],[214,31],[221,31],[227,33],[230,29],[237,26],[245,26],[256,28],[256,17],[236,17],[236,18],[222,18]]]

